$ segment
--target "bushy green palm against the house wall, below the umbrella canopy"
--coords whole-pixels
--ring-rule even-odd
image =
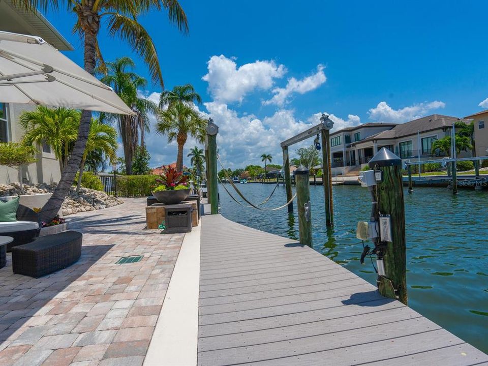
[[[19,118],[19,124],[25,131],[23,141],[27,145],[45,143],[51,146],[63,173],[76,141],[80,116],[80,112],[64,107],[38,106],[33,111],[23,112]]]

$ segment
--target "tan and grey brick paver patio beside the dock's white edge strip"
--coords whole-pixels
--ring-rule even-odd
[[[184,234],[143,230],[144,199],[68,217],[80,260],[52,275],[0,269],[0,365],[141,365]],[[143,255],[138,263],[115,264]]]

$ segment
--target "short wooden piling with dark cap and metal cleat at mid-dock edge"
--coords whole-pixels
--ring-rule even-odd
[[[296,205],[298,210],[298,231],[300,244],[312,248],[312,210],[310,207],[309,169],[300,165],[295,170]]]

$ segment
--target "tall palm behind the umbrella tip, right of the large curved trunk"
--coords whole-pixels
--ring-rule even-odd
[[[101,78],[103,83],[110,85],[114,92],[136,112],[135,116],[113,113],[101,114],[102,121],[110,121],[118,126],[124,147],[126,172],[129,175],[132,174],[132,160],[136,147],[139,145],[139,132],[142,145],[144,144],[144,133],[150,130],[148,113],[155,114],[158,111],[156,103],[139,98],[137,90],[144,89],[147,81],[131,71],[134,67],[135,63],[130,57],[116,58],[113,62],[105,64],[106,74]]]

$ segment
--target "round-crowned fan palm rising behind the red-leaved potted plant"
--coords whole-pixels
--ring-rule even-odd
[[[157,115],[158,122],[156,132],[166,135],[168,142],[176,140],[178,144],[178,156],[176,158],[176,170],[183,170],[183,147],[190,135],[199,138],[201,130],[205,128],[206,120],[193,108],[185,103],[174,103],[165,111]]]

